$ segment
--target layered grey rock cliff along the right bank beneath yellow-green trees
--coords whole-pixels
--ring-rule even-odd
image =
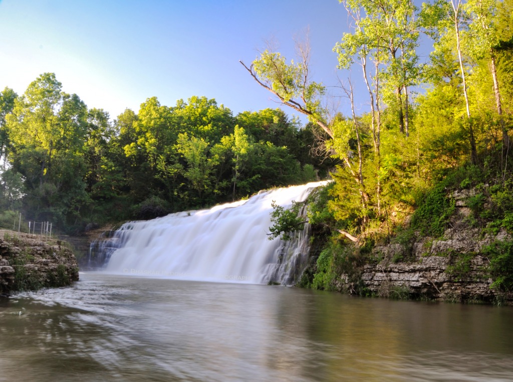
[[[489,259],[482,253],[485,246],[496,240],[504,242],[513,238],[503,230],[497,235],[482,236],[479,229],[466,223],[471,214],[465,204],[468,193],[460,191],[452,195],[457,211],[443,237],[418,238],[407,246],[374,247],[373,257],[379,261],[365,265],[358,282],[383,297],[406,295],[451,302],[513,304],[511,293],[492,288]],[[350,277],[343,275],[338,287],[350,291]]]

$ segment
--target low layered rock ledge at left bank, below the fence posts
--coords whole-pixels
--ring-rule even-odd
[[[78,280],[75,256],[64,244],[0,230],[0,294],[63,287]]]

